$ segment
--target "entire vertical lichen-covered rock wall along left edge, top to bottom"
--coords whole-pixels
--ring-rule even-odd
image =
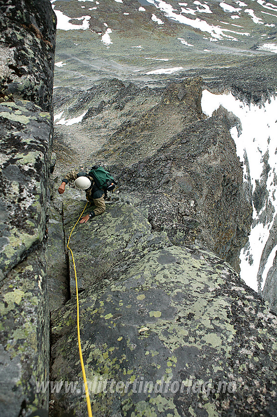
[[[47,177],[55,16],[0,5],[0,415],[48,409]]]

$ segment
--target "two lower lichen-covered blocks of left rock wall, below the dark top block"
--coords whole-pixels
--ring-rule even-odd
[[[46,208],[51,117],[28,101],[0,104],[1,417],[48,407]],[[25,415],[25,414],[24,414]]]

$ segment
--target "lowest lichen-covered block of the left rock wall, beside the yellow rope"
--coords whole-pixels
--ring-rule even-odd
[[[49,307],[46,247],[14,267],[0,291],[0,416],[48,408]],[[37,391],[37,389],[41,389]]]

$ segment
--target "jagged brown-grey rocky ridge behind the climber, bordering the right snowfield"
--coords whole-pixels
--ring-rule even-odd
[[[85,116],[75,126],[56,124],[54,146],[63,155],[59,147],[69,143],[70,132],[75,138],[70,147],[83,165],[89,168],[95,158],[105,161],[120,192],[130,197],[132,191],[137,204],[149,210],[155,230],[166,230],[175,243],[208,247],[239,271],[238,256],[252,214],[229,132],[239,121],[223,110],[205,120],[202,86],[201,78],[172,82],[162,91],[105,80],[98,90],[80,93],[70,105],[62,101],[63,90],[57,89],[54,100],[57,111],[63,109],[65,123],[80,112]],[[85,150],[80,142],[85,142]],[[97,150],[95,144],[102,146]],[[92,152],[90,160],[87,149]],[[58,158],[55,173],[63,175],[60,164],[64,166]],[[64,169],[71,169],[71,164]]]

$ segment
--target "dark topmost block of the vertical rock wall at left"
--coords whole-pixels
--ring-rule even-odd
[[[12,95],[51,111],[56,16],[50,1],[2,1],[0,97]]]

